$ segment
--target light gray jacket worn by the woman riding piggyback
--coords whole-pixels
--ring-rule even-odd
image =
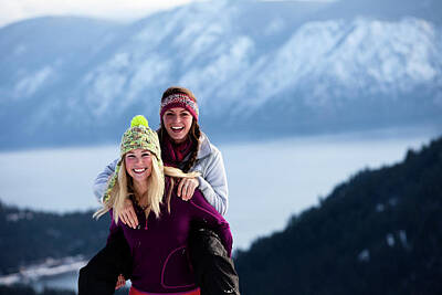
[[[107,180],[114,173],[118,159],[106,166],[94,181],[94,193],[98,201],[102,201],[103,194],[107,188]],[[201,190],[206,200],[221,214],[225,214],[229,207],[228,180],[225,177],[224,161],[221,151],[213,146],[209,138],[201,133],[200,149],[197,155],[197,161],[190,171],[200,172],[198,189]]]

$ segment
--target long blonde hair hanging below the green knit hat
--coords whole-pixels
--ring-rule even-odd
[[[124,158],[125,157],[122,157],[122,159]],[[170,197],[175,186],[173,178],[194,178],[200,175],[198,172],[185,173],[180,169],[173,167],[164,167],[161,171],[158,165],[158,159],[155,155],[152,155],[151,169],[152,171],[147,178],[147,193],[143,196],[143,198],[147,198],[147,208],[145,210],[146,220],[149,217],[150,211],[154,212],[156,218],[159,218],[160,204],[162,203],[162,198],[165,196],[165,175],[170,177],[170,186],[166,196],[167,209],[169,213]],[[118,223],[118,217],[124,209],[125,199],[134,193],[131,181],[129,181],[129,179],[130,176],[127,175],[125,161],[122,160],[122,167],[118,171],[117,181],[110,190],[109,198],[103,203],[103,208],[94,213],[94,218],[98,219],[110,209],[113,209],[113,218],[115,220],[115,223]]]

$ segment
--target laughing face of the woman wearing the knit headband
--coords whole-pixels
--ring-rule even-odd
[[[183,107],[169,108],[162,115],[162,124],[166,127],[167,134],[177,144],[186,140],[192,126],[192,115]]]

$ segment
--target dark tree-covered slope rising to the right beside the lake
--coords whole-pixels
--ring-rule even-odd
[[[242,294],[442,294],[441,180],[442,138],[360,171],[238,253]]]

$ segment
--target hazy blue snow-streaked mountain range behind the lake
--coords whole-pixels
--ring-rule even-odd
[[[12,24],[0,30],[0,147],[116,141],[135,114],[157,126],[177,84],[196,93],[203,129],[234,137],[442,125],[438,15],[438,0],[212,1],[129,25]]]

